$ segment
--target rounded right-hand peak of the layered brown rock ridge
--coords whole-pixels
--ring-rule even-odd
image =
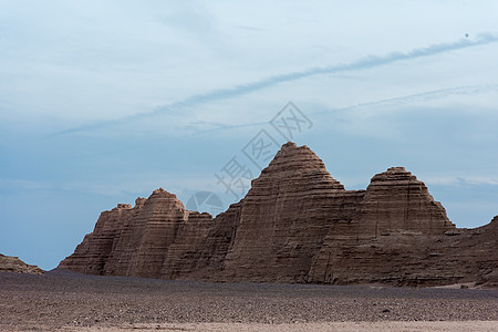
[[[375,175],[352,220],[334,224],[308,281],[417,283],[405,276],[426,241],[455,229],[427,187],[403,167]],[[427,280],[428,281],[428,280]]]

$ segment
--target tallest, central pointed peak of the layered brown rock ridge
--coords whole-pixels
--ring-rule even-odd
[[[363,193],[346,191],[307,146],[282,146],[251,184],[225,259],[228,280],[303,282],[330,227]]]

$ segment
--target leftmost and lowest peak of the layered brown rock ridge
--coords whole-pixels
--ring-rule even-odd
[[[92,234],[59,268],[75,272],[175,278],[196,270],[189,256],[212,230],[209,214],[185,209],[163,188],[135,207],[118,205],[101,214]]]

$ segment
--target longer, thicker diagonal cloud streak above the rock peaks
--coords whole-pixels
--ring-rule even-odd
[[[259,81],[250,82],[247,84],[239,84],[239,85],[228,87],[228,89],[214,90],[214,91],[210,91],[207,93],[196,94],[190,97],[184,98],[181,101],[178,101],[178,102],[175,102],[175,103],[172,103],[168,105],[159,106],[151,112],[138,113],[138,114],[122,117],[118,120],[100,121],[97,123],[92,123],[92,124],[87,124],[87,125],[83,125],[83,126],[79,126],[79,127],[69,128],[69,129],[65,129],[62,132],[54,133],[54,134],[50,135],[49,137],[96,129],[96,128],[105,127],[108,125],[117,125],[120,123],[125,123],[128,121],[160,115],[166,112],[179,111],[179,110],[185,110],[185,108],[203,105],[203,104],[210,103],[210,102],[234,98],[234,97],[246,95],[246,94],[249,94],[252,92],[272,87],[278,84],[298,81],[298,80],[311,77],[314,75],[335,74],[335,73],[366,70],[366,69],[387,65],[387,64],[392,64],[392,63],[396,63],[396,62],[401,62],[401,61],[409,61],[409,60],[415,60],[415,59],[419,59],[419,58],[434,56],[434,55],[443,54],[446,52],[464,50],[464,49],[475,48],[475,46],[481,46],[481,45],[487,45],[487,44],[496,43],[496,42],[498,42],[497,34],[481,33],[474,40],[460,39],[458,41],[450,42],[450,43],[438,43],[438,44],[432,44],[432,45],[428,45],[425,48],[413,49],[408,52],[393,52],[393,53],[388,53],[386,55],[369,55],[369,56],[361,58],[361,59],[350,62],[350,63],[342,63],[342,64],[330,65],[330,66],[320,66],[320,68],[313,68],[313,69],[309,69],[309,70],[304,70],[304,71],[297,71],[297,72],[291,72],[291,73],[287,73],[287,74],[274,75],[274,76],[270,76],[270,77],[262,79]]]

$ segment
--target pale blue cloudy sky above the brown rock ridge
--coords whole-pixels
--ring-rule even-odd
[[[497,12],[0,0],[0,252],[53,269],[101,211],[158,187],[216,214],[288,141],[347,189],[404,166],[457,227],[483,226],[498,215]]]

